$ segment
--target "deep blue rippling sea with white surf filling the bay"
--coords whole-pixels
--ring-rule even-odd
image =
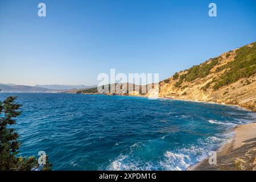
[[[54,170],[185,170],[256,121],[238,107],[144,97],[18,96],[22,156],[45,151]]]

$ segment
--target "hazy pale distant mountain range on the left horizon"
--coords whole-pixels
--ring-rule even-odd
[[[15,84],[0,84],[1,92],[13,92],[13,93],[57,93],[72,89],[87,89],[93,86],[85,85],[15,85]]]

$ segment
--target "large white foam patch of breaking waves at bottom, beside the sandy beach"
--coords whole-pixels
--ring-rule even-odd
[[[175,150],[168,150],[160,156],[159,160],[155,162],[143,161],[133,152],[141,149],[144,146],[142,142],[132,144],[130,153],[126,155],[119,155],[114,159],[107,170],[168,170],[168,171],[183,171],[188,167],[196,164],[209,156],[209,152],[216,150],[222,143],[226,142],[233,133],[224,135],[216,135],[204,139],[198,139],[195,146],[176,148]]]

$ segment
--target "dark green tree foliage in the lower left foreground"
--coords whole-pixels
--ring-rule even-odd
[[[0,170],[20,170],[28,171],[39,168],[38,160],[34,156],[19,158],[18,133],[11,125],[15,124],[15,119],[21,114],[20,104],[15,104],[16,97],[10,96],[5,101],[0,102]],[[48,162],[42,170],[51,170],[52,164]]]

